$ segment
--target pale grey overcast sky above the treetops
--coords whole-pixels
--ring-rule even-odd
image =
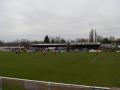
[[[88,38],[92,28],[120,37],[120,0],[0,0],[0,40]]]

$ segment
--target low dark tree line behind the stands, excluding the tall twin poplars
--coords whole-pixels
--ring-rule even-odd
[[[91,37],[92,34],[90,34]],[[110,37],[102,37],[100,35],[96,36],[97,42],[100,42],[101,44],[120,44],[120,38],[115,38],[114,36],[110,36]],[[44,37],[43,41],[31,41],[31,40],[27,40],[27,39],[21,39],[21,40],[15,40],[12,42],[4,42],[4,41],[0,41],[0,46],[24,46],[26,48],[28,48],[31,44],[40,44],[40,43],[88,43],[88,42],[92,42],[92,40],[90,41],[89,39],[86,38],[77,38],[75,40],[65,40],[64,38],[61,37],[49,37],[48,35],[46,35]]]

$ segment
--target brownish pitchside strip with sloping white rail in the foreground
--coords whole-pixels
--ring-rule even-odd
[[[6,88],[7,89],[4,89]],[[85,86],[65,83],[54,83],[37,80],[27,80],[10,77],[0,77],[0,90],[9,90],[9,88],[17,90],[120,90],[119,88]]]

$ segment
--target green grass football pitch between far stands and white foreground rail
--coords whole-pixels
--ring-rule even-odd
[[[57,55],[0,52],[0,76],[120,87],[120,53],[64,52]]]

